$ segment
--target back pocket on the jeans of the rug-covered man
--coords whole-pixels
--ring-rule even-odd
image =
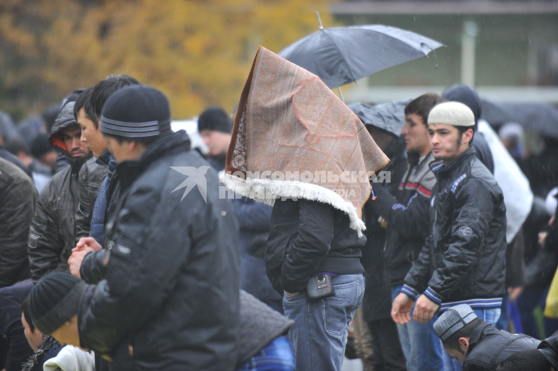
[[[324,330],[333,336],[341,336],[347,329],[347,313],[357,306],[357,282],[334,285],[335,295],[321,300]]]

